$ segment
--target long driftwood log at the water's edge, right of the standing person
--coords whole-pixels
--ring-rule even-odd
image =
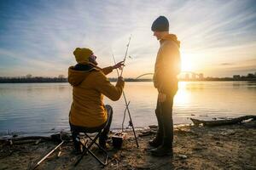
[[[236,117],[236,118],[232,118],[232,119],[217,120],[217,121],[202,121],[199,119],[190,118],[190,120],[195,124],[195,126],[202,124],[204,126],[209,126],[209,127],[236,124],[236,123],[248,120],[248,119],[256,120],[256,116],[247,115],[247,116],[240,116],[240,117]]]

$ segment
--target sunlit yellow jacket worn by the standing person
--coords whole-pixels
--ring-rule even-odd
[[[163,94],[176,94],[177,75],[180,73],[180,42],[174,34],[160,40],[154,65],[154,88]]]

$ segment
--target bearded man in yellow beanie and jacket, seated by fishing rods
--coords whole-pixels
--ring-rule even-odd
[[[81,153],[79,133],[99,133],[99,145],[106,149],[113,109],[103,104],[103,95],[116,101],[120,98],[125,82],[118,78],[113,86],[106,75],[121,68],[123,61],[106,68],[97,67],[96,56],[89,48],[76,48],[73,52],[77,65],[68,69],[68,82],[73,86],[73,103],[69,123],[74,149]]]

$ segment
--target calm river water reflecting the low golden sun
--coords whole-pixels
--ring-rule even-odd
[[[157,91],[153,82],[126,82],[126,98],[135,127],[156,124],[154,109]],[[121,98],[113,106],[112,128],[120,128],[125,111]],[[0,84],[0,135],[49,135],[68,131],[72,87],[68,83]],[[256,115],[256,82],[179,82],[174,99],[175,124],[191,123],[189,117]],[[128,124],[126,117],[125,127]]]

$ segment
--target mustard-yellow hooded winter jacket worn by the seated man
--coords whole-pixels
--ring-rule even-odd
[[[103,95],[118,100],[125,82],[113,86],[105,76],[113,71],[96,65],[75,65],[68,69],[68,82],[73,86],[73,103],[69,121],[80,127],[99,127],[107,121],[108,115],[103,104]]]

